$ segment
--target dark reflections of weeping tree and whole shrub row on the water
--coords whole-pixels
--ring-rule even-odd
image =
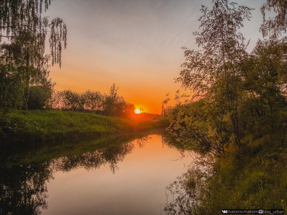
[[[77,169],[92,171],[102,166],[109,166],[115,174],[118,164],[123,162],[135,147],[143,148],[152,136],[145,136],[134,141],[119,144],[112,141],[109,147],[99,148],[93,152],[80,155],[63,156],[44,162],[21,163],[3,162],[0,167],[0,214],[41,214],[48,208],[47,182],[54,179],[57,172],[68,173]],[[162,146],[174,148],[183,152],[183,149],[172,145],[168,137],[158,136]],[[7,161],[6,160],[6,161]],[[33,160],[33,158],[30,158]],[[37,161],[37,159],[34,159]],[[15,164],[16,163],[16,164]],[[131,173],[134,174],[134,173]],[[164,187],[165,184],[162,185]],[[120,213],[118,213],[120,214]]]

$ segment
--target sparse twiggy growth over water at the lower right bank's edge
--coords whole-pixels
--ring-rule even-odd
[[[212,174],[215,159],[210,154],[199,154],[187,151],[192,159],[186,173],[166,187],[167,195],[172,196],[172,202],[164,204],[163,212],[169,215],[194,214],[201,204],[206,178]]]

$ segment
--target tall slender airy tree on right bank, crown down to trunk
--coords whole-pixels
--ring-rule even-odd
[[[185,89],[193,91],[193,98],[216,102],[221,110],[215,118],[229,117],[235,144],[240,147],[241,129],[238,106],[240,102],[241,71],[238,67],[247,55],[243,35],[238,29],[243,20],[251,17],[251,8],[238,6],[228,0],[213,1],[212,10],[202,6],[203,15],[199,18],[201,32],[195,32],[196,42],[203,50],[185,49],[184,69],[177,78]],[[209,106],[210,108],[212,106]]]

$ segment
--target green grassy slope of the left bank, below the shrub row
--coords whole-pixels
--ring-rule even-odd
[[[0,112],[1,140],[43,141],[163,128],[164,122],[134,121],[71,111]]]

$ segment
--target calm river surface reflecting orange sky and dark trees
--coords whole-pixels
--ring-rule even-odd
[[[0,208],[4,214],[163,214],[165,187],[192,162],[180,151],[150,135],[49,162],[10,165],[1,170]]]

